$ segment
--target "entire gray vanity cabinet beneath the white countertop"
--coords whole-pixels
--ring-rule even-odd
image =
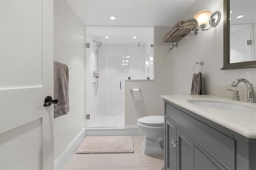
[[[256,170],[256,140],[165,101],[163,170]]]

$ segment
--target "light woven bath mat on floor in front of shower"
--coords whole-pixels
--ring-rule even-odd
[[[132,136],[88,136],[76,154],[133,153]]]

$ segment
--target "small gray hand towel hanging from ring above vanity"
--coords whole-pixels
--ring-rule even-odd
[[[190,95],[198,95],[198,94],[204,94],[204,82],[203,82],[203,76],[201,72],[198,72],[197,74],[194,73],[192,78]]]

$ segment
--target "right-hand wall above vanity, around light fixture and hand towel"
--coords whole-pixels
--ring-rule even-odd
[[[230,84],[236,78],[245,78],[256,84],[255,68],[220,70],[223,66],[223,0],[196,0],[181,19],[193,18],[201,10],[218,10],[222,19],[216,27],[193,35],[170,52],[173,57],[173,93],[190,94],[193,66],[198,61],[204,61],[202,74],[206,94],[214,94],[214,86],[232,88]],[[225,89],[226,87],[223,88]]]

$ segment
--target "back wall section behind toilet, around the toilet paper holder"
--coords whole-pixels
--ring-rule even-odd
[[[170,27],[154,27],[154,80],[125,82],[125,125],[137,125],[140,117],[164,115],[164,94],[172,94],[172,57],[162,37]],[[130,92],[140,88],[141,92]]]

